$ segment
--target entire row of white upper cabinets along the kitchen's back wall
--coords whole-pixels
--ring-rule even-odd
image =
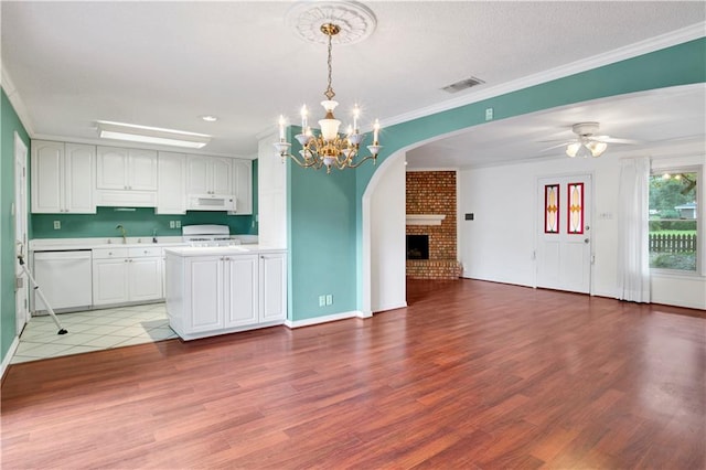
[[[226,157],[33,140],[31,184],[33,213],[253,213],[253,162]]]

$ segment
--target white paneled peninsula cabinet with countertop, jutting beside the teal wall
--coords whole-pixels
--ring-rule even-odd
[[[169,324],[183,340],[285,323],[286,250],[189,246],[164,254]]]

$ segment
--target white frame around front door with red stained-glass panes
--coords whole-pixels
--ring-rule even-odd
[[[595,265],[595,260],[596,260],[596,254],[595,254],[595,237],[596,237],[596,174],[593,171],[581,171],[581,169],[577,169],[577,171],[571,171],[571,172],[561,172],[561,173],[557,173],[557,174],[537,174],[535,178],[535,203],[534,206],[537,210],[537,213],[535,214],[535,229],[534,229],[534,252],[533,252],[533,260],[535,264],[534,267],[534,288],[537,289],[539,288],[538,286],[538,278],[539,278],[539,259],[538,259],[538,250],[539,250],[539,231],[543,228],[543,223],[541,221],[544,221],[544,213],[539,213],[538,209],[541,205],[543,205],[542,201],[541,201],[541,181],[542,180],[546,180],[546,179],[564,179],[564,178],[582,178],[582,177],[587,177],[588,180],[590,181],[590,191],[589,191],[589,196],[586,197],[584,201],[586,204],[588,204],[588,211],[586,212],[586,214],[588,214],[589,216],[589,223],[590,223],[590,229],[589,229],[589,263],[588,263],[588,292],[586,292],[589,296],[593,296],[593,287],[596,285],[593,276],[596,274],[596,269],[593,269],[593,265]],[[560,222],[560,226],[565,227],[564,225],[564,221]],[[586,222],[585,222],[586,224]],[[571,292],[570,290],[566,290],[567,292]],[[584,293],[584,292],[577,292],[577,293]]]

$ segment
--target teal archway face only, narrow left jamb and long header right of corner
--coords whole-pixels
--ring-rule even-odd
[[[492,107],[495,120],[627,93],[706,82],[706,39],[689,41],[541,85],[507,93],[459,108],[402,122],[385,129],[378,162],[416,142],[485,122]],[[378,163],[379,164],[379,163]],[[362,197],[376,167],[356,170],[355,215],[359,253],[362,245]],[[363,260],[356,259],[357,309],[363,308]]]

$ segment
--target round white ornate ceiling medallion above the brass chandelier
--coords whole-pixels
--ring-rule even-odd
[[[304,1],[296,3],[286,22],[302,40],[312,43],[354,44],[370,36],[377,19],[362,3],[354,1]],[[340,31],[333,36],[321,34],[321,26],[335,24]]]

